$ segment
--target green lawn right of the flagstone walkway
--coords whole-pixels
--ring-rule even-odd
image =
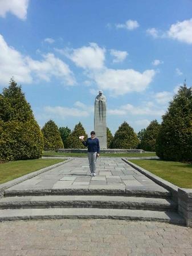
[[[158,177],[181,188],[192,188],[192,164],[161,160],[131,160]]]

